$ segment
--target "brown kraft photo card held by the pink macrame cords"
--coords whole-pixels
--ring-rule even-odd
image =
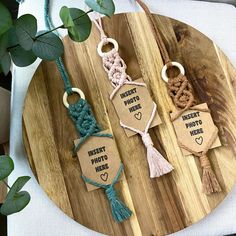
[[[144,83],[142,78],[135,82]],[[144,131],[153,110],[153,100],[146,87],[125,84],[116,93],[112,102],[118,117],[125,125]],[[150,128],[161,123],[161,118],[156,112]],[[125,133],[128,137],[136,134],[128,129],[125,129]]]

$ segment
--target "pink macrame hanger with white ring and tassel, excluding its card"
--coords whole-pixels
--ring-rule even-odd
[[[124,86],[124,85],[135,85],[146,87],[145,83],[134,82],[131,80],[130,76],[126,73],[126,64],[124,60],[120,57],[118,49],[118,43],[116,40],[112,38],[108,38],[103,30],[102,21],[99,17],[98,20],[94,21],[95,25],[99,29],[101,33],[101,41],[98,44],[97,51],[99,56],[101,56],[103,61],[103,67],[108,74],[108,79],[113,86],[113,91],[110,95],[110,100],[113,100],[116,93]],[[103,52],[102,48],[104,45],[111,43],[114,48],[109,52]],[[157,112],[157,105],[153,102],[153,109],[150,114],[149,121],[144,130],[138,130],[134,127],[131,127],[127,124],[124,124],[120,121],[120,125],[127,130],[133,131],[135,133],[140,134],[142,137],[143,144],[147,148],[147,159],[150,169],[150,177],[155,178],[167,174],[173,170],[172,165],[157,151],[157,149],[153,146],[152,139],[148,133],[148,130],[154,120],[155,114]]]

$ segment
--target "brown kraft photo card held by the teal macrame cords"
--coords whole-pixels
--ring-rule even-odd
[[[110,133],[109,130],[101,133]],[[79,139],[74,141],[75,145]],[[113,138],[91,136],[79,149],[77,156],[83,175],[98,183],[111,184],[120,168],[120,155]],[[88,191],[98,189],[86,183]]]

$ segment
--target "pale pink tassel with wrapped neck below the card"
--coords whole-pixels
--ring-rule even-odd
[[[145,147],[147,148],[150,178],[160,177],[171,172],[174,169],[173,166],[153,146],[153,142],[149,133],[144,133],[142,135],[142,140]]]

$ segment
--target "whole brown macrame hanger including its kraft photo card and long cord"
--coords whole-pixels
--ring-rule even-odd
[[[200,165],[203,170],[202,173],[203,192],[205,194],[220,192],[221,187],[217,181],[217,178],[211,167],[211,163],[207,157],[209,149],[211,149],[212,146],[214,146],[214,143],[218,140],[218,128],[214,125],[210,117],[210,110],[208,109],[207,104],[196,105],[193,88],[189,83],[187,77],[185,76],[184,67],[178,62],[172,62],[170,60],[165,44],[161,38],[161,34],[156,26],[156,23],[153,19],[150,10],[142,0],[136,0],[136,1],[139,3],[139,5],[143,8],[143,10],[147,14],[147,17],[151,23],[152,30],[156,38],[156,42],[158,44],[158,47],[160,49],[165,64],[162,69],[161,76],[163,80],[167,83],[169,95],[172,98],[175,107],[177,108],[177,112],[171,115],[171,121],[173,122],[177,133],[179,146],[182,148],[183,151],[185,152],[187,151],[188,154],[192,153],[193,155],[199,158]],[[173,77],[168,78],[167,70],[171,67],[177,67],[180,71],[180,74],[174,78]],[[191,123],[185,123],[184,121],[197,117],[198,120],[195,121],[194,124],[204,125],[203,121],[200,120],[199,118],[200,116],[207,117],[207,119],[209,120],[209,124],[206,124],[206,128],[207,125],[209,125],[209,127],[212,127],[211,135],[207,137],[207,141],[205,142],[202,136],[202,129],[198,129],[198,130],[191,130],[190,132],[188,131],[186,133],[187,135],[190,134],[189,139],[191,139],[192,136],[194,137],[195,135],[197,135],[195,139],[193,138],[191,139],[193,140],[195,145],[190,145],[189,140],[187,140],[188,142],[186,143],[182,143],[179,137],[180,136],[183,137],[184,135],[181,134],[181,132],[183,133],[184,129],[191,128]],[[181,128],[177,129],[177,126],[180,125],[182,125]],[[201,134],[200,136],[199,133]],[[188,137],[187,138],[183,137],[182,139],[183,140],[188,139]],[[201,148],[203,144],[205,145],[203,148]],[[196,151],[195,146],[197,146],[196,149],[201,148],[201,151],[200,152]]]

